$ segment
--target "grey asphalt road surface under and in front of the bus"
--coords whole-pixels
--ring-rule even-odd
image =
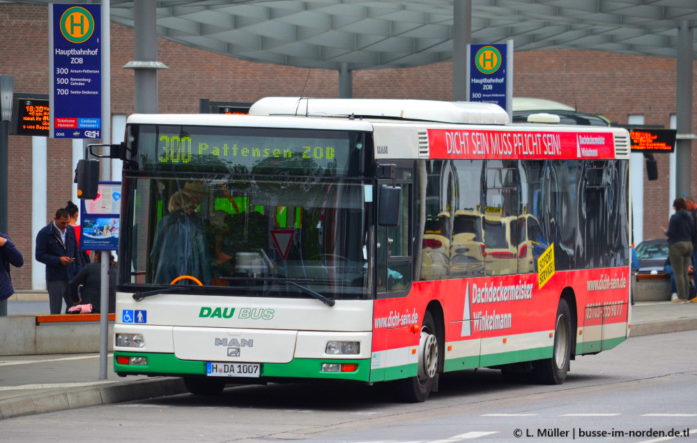
[[[466,371],[444,376],[440,391],[416,404],[397,402],[386,384],[236,386],[212,398],[182,394],[6,419],[1,435],[15,442],[687,442],[697,440],[696,341],[697,331],[632,338],[572,361],[560,386]],[[669,437],[673,431],[681,436]]]

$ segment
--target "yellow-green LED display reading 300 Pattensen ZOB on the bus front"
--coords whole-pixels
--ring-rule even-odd
[[[244,174],[284,170],[302,175],[342,175],[348,170],[346,131],[284,131],[288,136],[279,137],[268,130],[239,128],[160,126],[156,133],[148,128],[154,129],[142,127],[138,143],[141,164],[148,169]],[[201,129],[204,133],[197,133]]]

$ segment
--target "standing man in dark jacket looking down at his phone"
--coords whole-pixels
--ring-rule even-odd
[[[46,265],[46,289],[52,314],[61,313],[61,302],[74,306],[70,280],[82,269],[75,230],[67,209],[59,209],[53,221],[36,234],[36,261]]]

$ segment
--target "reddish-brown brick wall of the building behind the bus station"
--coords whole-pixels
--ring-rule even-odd
[[[0,3],[0,74],[15,77],[15,91],[48,93],[48,9]],[[113,24],[112,112],[133,112],[132,29]],[[338,73],[266,63],[252,63],[158,40],[160,112],[198,112],[199,99],[252,102],[265,96],[336,97]],[[674,59],[596,51],[538,50],[516,52],[514,95],[548,98],[579,111],[604,114],[627,123],[628,114],[644,114],[647,124],[668,126],[675,113]],[[452,100],[452,63],[408,69],[362,70],[353,73],[356,98]],[[693,96],[695,96],[693,92]],[[697,115],[696,109],[693,111]],[[695,129],[693,128],[693,133]],[[47,216],[70,200],[72,144],[47,142]],[[697,171],[693,156],[692,169]],[[668,158],[657,156],[659,180],[645,181],[644,238],[662,236],[668,216]],[[13,271],[17,289],[31,287],[31,137],[10,136],[8,234],[26,264]],[[692,193],[697,194],[693,185]],[[47,220],[47,223],[48,221]]]

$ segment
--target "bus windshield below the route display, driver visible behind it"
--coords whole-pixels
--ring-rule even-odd
[[[134,217],[126,285],[151,290],[190,276],[176,284],[194,294],[308,296],[309,289],[330,298],[367,297],[362,183],[231,177],[129,183],[135,195],[128,199]]]

